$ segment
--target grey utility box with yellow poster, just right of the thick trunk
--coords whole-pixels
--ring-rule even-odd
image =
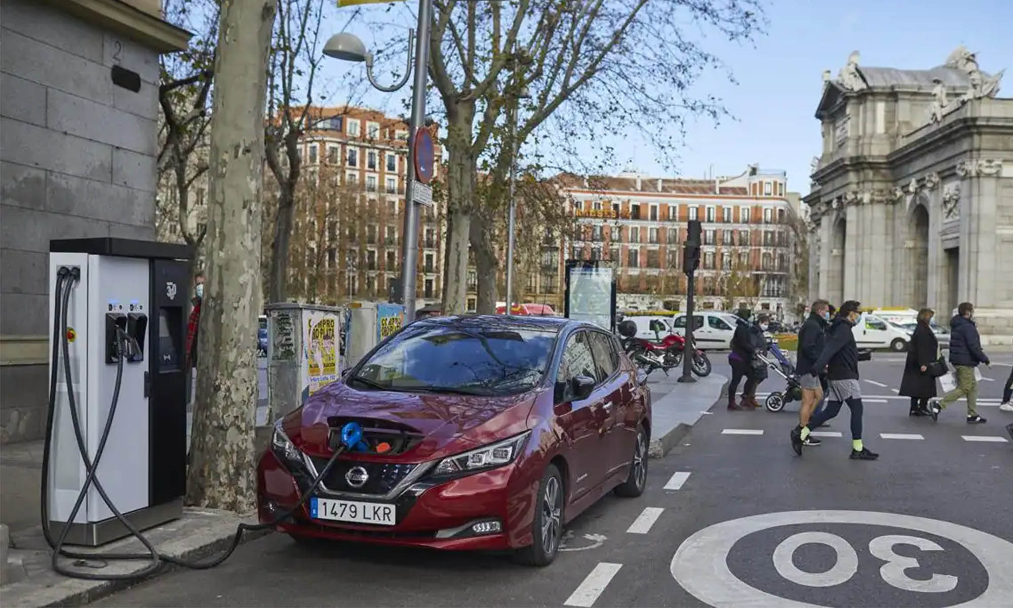
[[[341,374],[342,310],[282,302],[267,311],[267,422],[302,405]]]

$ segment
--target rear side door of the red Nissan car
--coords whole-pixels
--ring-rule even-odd
[[[620,373],[619,353],[611,335],[592,331],[589,337],[600,383],[596,390],[603,397],[596,407],[600,408],[602,419],[602,453],[608,467],[605,474],[609,476],[629,462],[636,441],[636,433],[631,434],[625,427],[626,399],[623,389],[629,377]]]

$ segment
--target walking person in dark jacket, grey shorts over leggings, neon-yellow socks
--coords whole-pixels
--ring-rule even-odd
[[[861,316],[861,303],[848,300],[841,304],[837,317],[827,331],[827,345],[820,358],[809,369],[809,375],[816,377],[824,367],[827,367],[827,378],[830,390],[827,406],[813,414],[809,424],[801,429],[791,430],[791,448],[799,456],[805,439],[828,420],[841,411],[841,405],[848,404],[851,409],[851,456],[852,460],[875,460],[879,454],[869,450],[862,442],[862,386],[858,379],[858,362],[872,358],[869,352],[859,352],[855,344],[855,333],[852,328]]]

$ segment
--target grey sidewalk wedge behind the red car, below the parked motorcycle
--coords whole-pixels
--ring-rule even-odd
[[[651,458],[664,458],[676,447],[679,440],[707,413],[721,398],[721,392],[728,379],[711,373],[696,382],[678,381],[678,370],[665,376],[660,372],[651,374],[647,386],[651,390],[651,440],[648,454]]]

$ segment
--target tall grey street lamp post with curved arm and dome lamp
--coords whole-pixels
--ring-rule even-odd
[[[414,80],[411,92],[411,124],[408,135],[407,184],[404,191],[404,237],[401,239],[401,289],[400,301],[404,305],[404,323],[410,323],[415,318],[415,284],[418,265],[418,208],[414,201],[415,184],[415,138],[418,131],[425,127],[425,82],[430,59],[430,21],[433,15],[433,0],[418,0],[418,36],[408,31],[408,61],[404,77],[393,86],[384,86],[373,77],[373,54],[366,51],[366,46],[353,33],[334,34],[324,45],[323,53],[327,57],[343,61],[365,61],[366,76],[370,84],[384,92],[393,92],[408,82],[411,74],[411,44],[414,42]]]

